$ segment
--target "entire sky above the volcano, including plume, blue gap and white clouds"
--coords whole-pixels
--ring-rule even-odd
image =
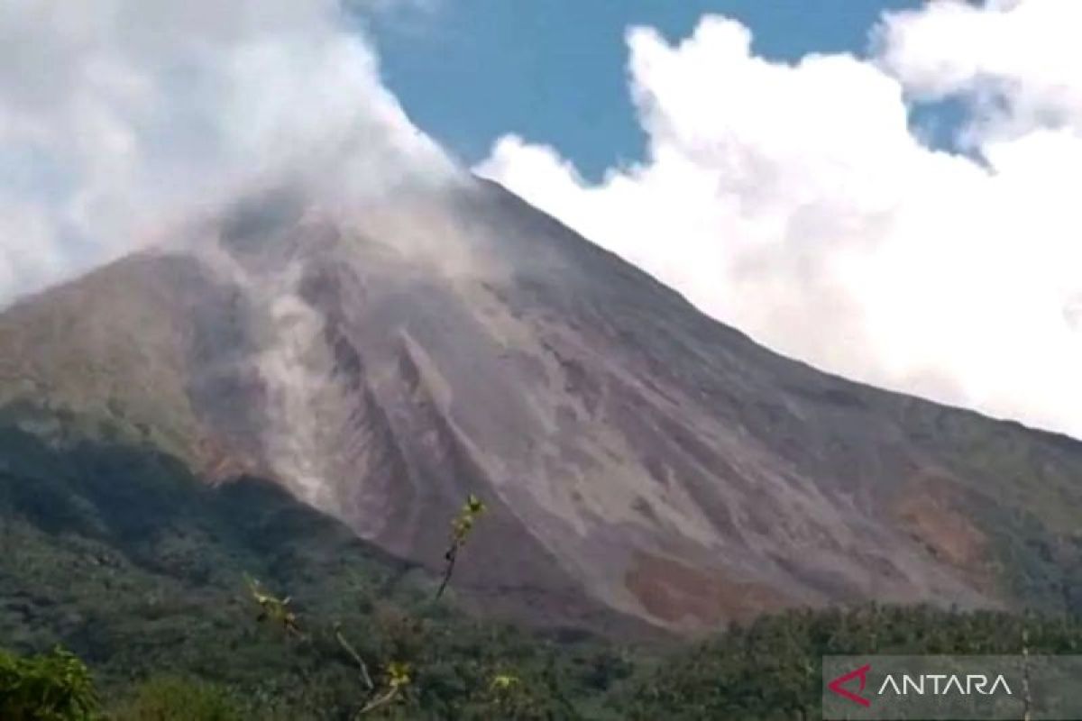
[[[0,0],[0,302],[253,186],[469,170],[780,352],[1082,438],[1078,27],[1078,0]]]

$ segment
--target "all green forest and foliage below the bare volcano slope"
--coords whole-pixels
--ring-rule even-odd
[[[462,512],[448,566],[479,500]],[[1034,653],[1082,649],[1063,613],[882,606],[634,649],[474,620],[440,580],[256,479],[0,424],[4,721],[809,720],[823,654],[1017,653],[1024,629]]]

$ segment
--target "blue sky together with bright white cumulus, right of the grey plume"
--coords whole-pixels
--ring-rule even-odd
[[[784,355],[1082,433],[1082,2],[424,4],[383,81],[475,172]]]

